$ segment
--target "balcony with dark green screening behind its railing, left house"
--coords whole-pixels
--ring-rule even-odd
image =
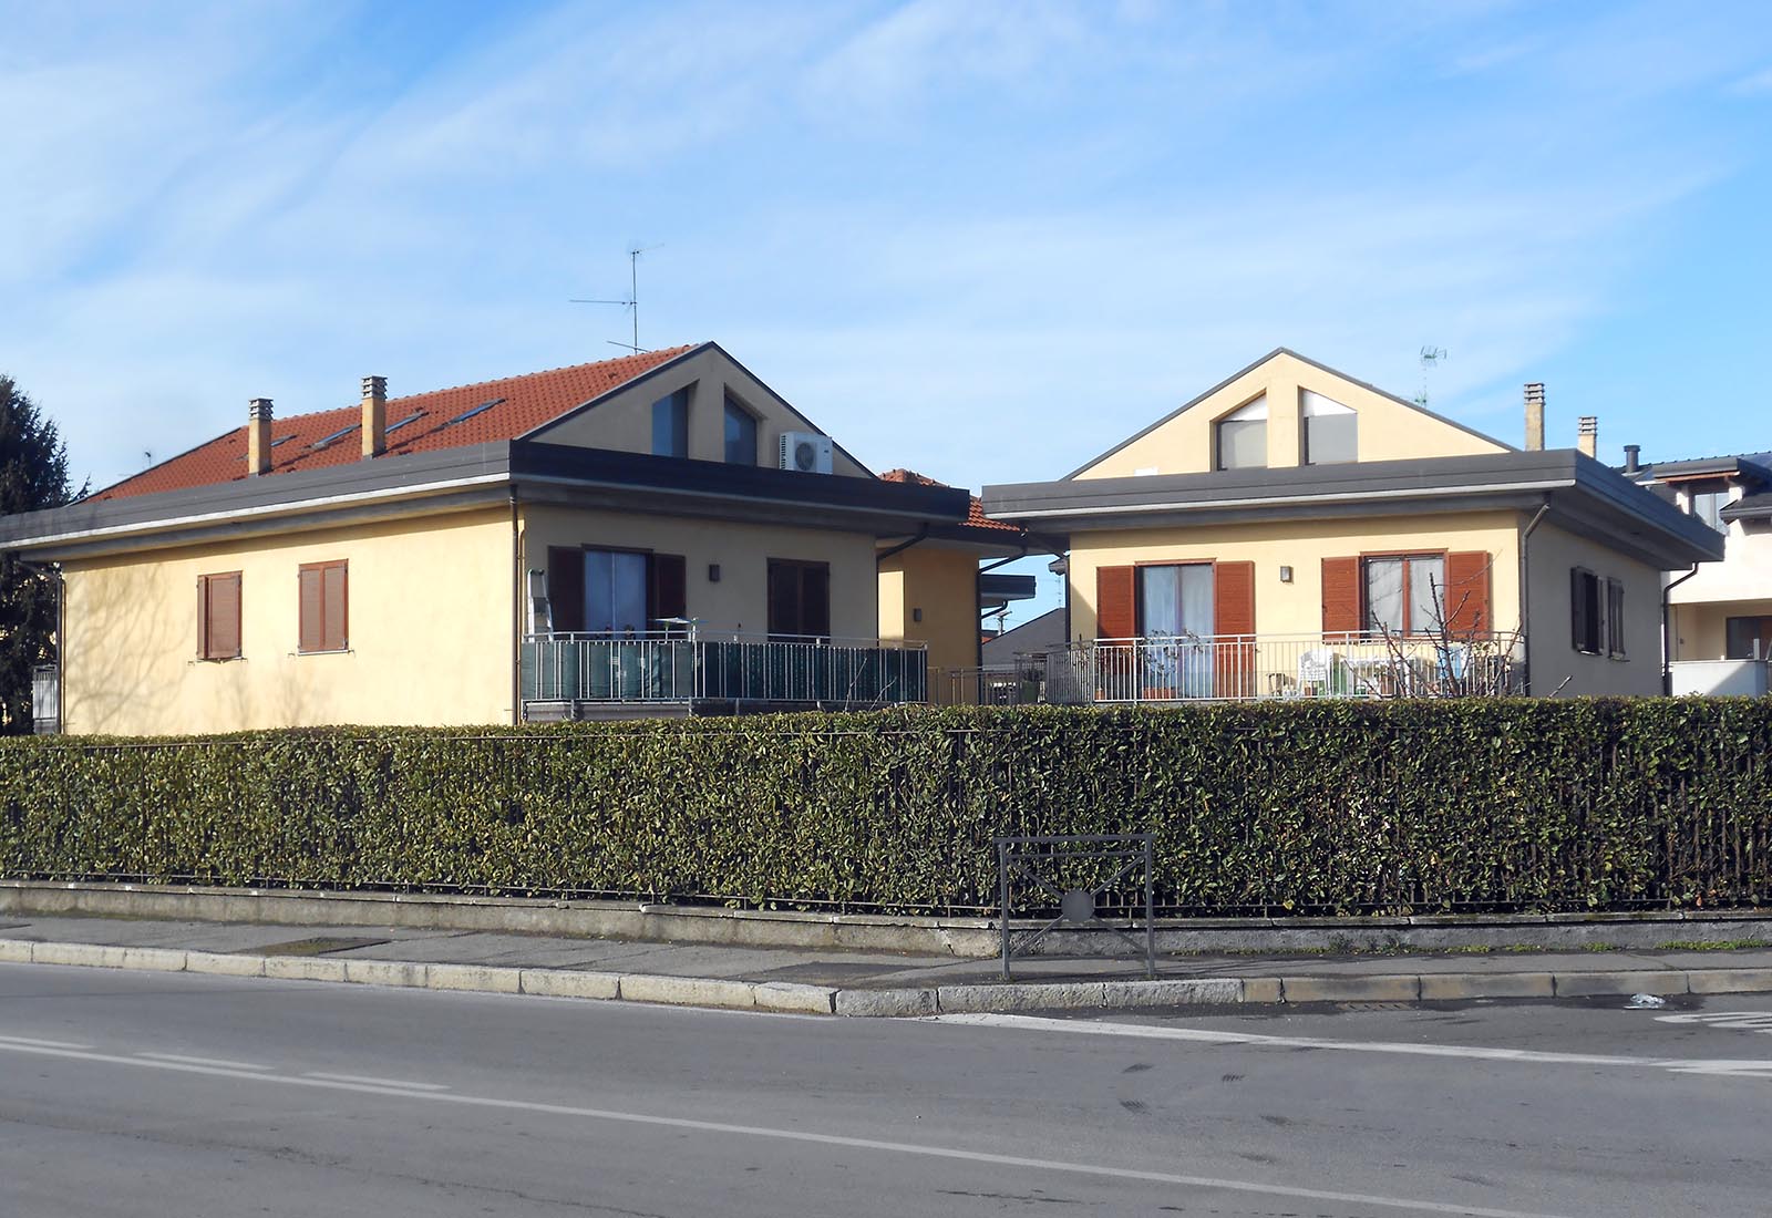
[[[920,643],[705,632],[523,639],[523,717],[530,721],[856,710],[927,698]]]

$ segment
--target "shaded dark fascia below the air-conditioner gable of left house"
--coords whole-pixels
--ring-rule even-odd
[[[959,524],[971,510],[971,497],[950,487],[920,487],[845,474],[803,474],[766,466],[728,466],[718,460],[682,460],[602,448],[512,441],[510,473],[519,497],[532,487],[599,489],[670,496],[695,515],[723,515],[730,505],[774,505],[815,512],[804,522],[824,524],[829,513],[854,513],[904,531],[905,522]],[[647,505],[638,505],[647,506]]]

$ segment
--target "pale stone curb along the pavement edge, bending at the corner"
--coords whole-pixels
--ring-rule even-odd
[[[838,990],[787,981],[730,981],[649,974],[427,965],[397,960],[257,956],[168,947],[46,944],[0,938],[0,963],[78,965],[229,977],[337,981],[408,990],[530,993],[668,1006],[783,1011],[854,1018],[939,1013],[1136,1009],[1159,1006],[1278,1006],[1288,1002],[1458,1002],[1628,993],[1772,993],[1772,968],[1644,968],[1611,972],[1391,974],[1372,977],[1170,977],[1161,981],[955,984]]]

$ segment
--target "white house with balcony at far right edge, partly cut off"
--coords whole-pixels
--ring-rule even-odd
[[[1765,694],[1772,659],[1772,453],[1641,464],[1623,474],[1717,531],[1722,561],[1667,579],[1669,692]]]

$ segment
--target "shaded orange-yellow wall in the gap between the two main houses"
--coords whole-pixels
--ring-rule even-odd
[[[946,699],[948,675],[978,667],[978,552],[913,545],[881,565],[879,598],[881,639],[927,643],[930,694]]]

